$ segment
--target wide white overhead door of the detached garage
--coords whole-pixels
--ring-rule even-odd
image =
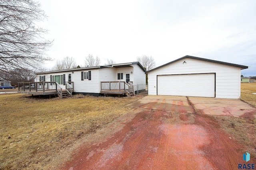
[[[214,97],[215,74],[157,76],[157,94]]]

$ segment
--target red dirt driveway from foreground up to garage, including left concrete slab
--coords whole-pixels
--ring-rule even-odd
[[[142,98],[129,106],[140,112],[105,140],[86,143],[62,169],[226,170],[256,163],[245,162],[244,146],[209,116],[195,113],[187,98]]]

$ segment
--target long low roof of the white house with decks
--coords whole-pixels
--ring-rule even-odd
[[[36,74],[47,74],[47,73],[54,73],[54,72],[67,72],[67,71],[88,70],[88,69],[97,69],[97,68],[108,68],[108,67],[120,68],[120,67],[129,67],[133,64],[138,64],[138,66],[140,66],[140,68],[144,72],[146,72],[145,68],[138,61],[136,61],[136,62],[131,62],[131,63],[110,64],[110,65],[103,65],[103,66],[81,67],[81,68],[72,68],[72,69],[67,69],[67,70],[54,70],[54,71],[38,72]]]

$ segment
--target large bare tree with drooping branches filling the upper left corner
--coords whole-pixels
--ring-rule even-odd
[[[43,61],[51,45],[42,37],[47,30],[36,26],[46,18],[40,4],[33,0],[0,1],[0,70],[35,67]]]

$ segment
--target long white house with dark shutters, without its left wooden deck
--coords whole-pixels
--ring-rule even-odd
[[[101,94],[121,94],[118,90],[126,86],[124,82],[131,82],[135,92],[145,90],[145,72],[145,68],[139,62],[132,62],[39,72],[36,73],[35,81],[57,82],[63,89],[65,89],[66,82],[74,82],[73,92],[75,94],[100,96]],[[144,84],[144,86],[139,86],[140,88],[137,89],[137,84]],[[25,93],[25,90],[23,91]]]

